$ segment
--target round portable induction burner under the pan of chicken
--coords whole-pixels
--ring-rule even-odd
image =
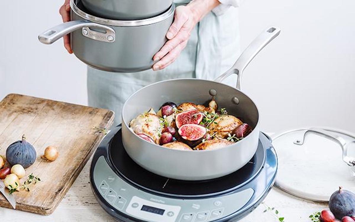
[[[90,169],[94,195],[119,221],[236,221],[254,210],[274,183],[277,156],[263,133],[255,155],[241,169],[217,179],[183,181],[138,166],[122,145],[120,129],[105,136]]]

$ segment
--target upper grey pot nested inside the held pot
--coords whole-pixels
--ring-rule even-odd
[[[95,15],[116,20],[137,20],[168,10],[173,0],[82,0]]]

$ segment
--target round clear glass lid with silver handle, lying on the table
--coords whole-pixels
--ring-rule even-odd
[[[355,193],[355,136],[328,128],[273,136],[279,167],[275,185],[303,199],[328,202],[342,186]]]

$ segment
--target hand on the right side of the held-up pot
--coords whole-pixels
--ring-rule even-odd
[[[176,7],[174,22],[170,26],[168,33],[166,33],[168,41],[153,56],[154,61],[160,60],[153,65],[154,71],[164,69],[173,63],[180,55],[182,49],[186,47],[191,31],[198,22],[194,15],[195,13],[193,13],[189,5]]]

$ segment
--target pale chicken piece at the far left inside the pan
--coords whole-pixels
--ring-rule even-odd
[[[159,144],[159,134],[162,133],[159,117],[152,113],[138,115],[130,122],[130,127],[136,134],[145,134]]]

